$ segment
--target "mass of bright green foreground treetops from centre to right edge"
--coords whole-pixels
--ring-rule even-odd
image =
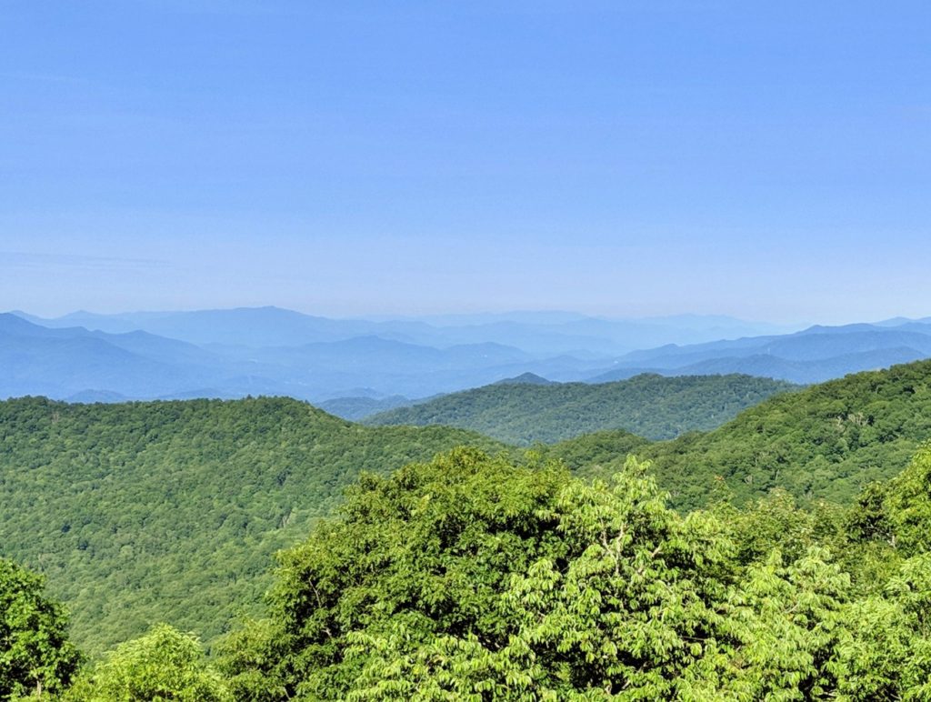
[[[682,517],[643,468],[589,484],[460,450],[363,479],[227,641],[234,695],[931,698],[931,555],[895,546],[920,491],[852,538],[856,509],[785,493]]]

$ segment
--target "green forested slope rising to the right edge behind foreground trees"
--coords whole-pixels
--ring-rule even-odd
[[[610,472],[627,452],[649,458],[673,503],[693,508],[707,504],[719,476],[738,501],[779,487],[848,503],[870,481],[896,475],[928,439],[931,361],[917,361],[769,398],[707,434],[648,445],[607,433],[551,451],[588,474]]]

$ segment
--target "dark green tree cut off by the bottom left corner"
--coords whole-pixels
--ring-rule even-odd
[[[0,700],[55,693],[68,685],[79,656],[67,619],[43,579],[0,559]]]

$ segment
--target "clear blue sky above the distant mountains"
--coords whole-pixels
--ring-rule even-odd
[[[0,308],[931,315],[931,3],[11,0]]]

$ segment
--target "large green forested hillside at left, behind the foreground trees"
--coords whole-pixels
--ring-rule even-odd
[[[157,621],[209,640],[360,471],[459,444],[501,448],[459,429],[354,425],[287,398],[7,400],[0,557],[48,575],[89,652]]]

